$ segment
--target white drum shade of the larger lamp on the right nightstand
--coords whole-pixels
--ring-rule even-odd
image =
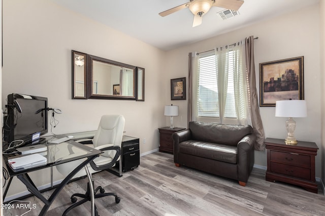
[[[305,100],[286,100],[275,102],[276,117],[307,117],[307,103]]]

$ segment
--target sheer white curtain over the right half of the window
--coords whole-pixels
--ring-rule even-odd
[[[220,123],[251,124],[244,40],[231,46],[215,48],[214,51]],[[232,109],[236,111],[237,118],[230,117]]]

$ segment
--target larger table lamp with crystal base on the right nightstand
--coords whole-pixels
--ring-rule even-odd
[[[275,116],[288,117],[285,122],[287,137],[285,144],[296,145],[298,142],[294,136],[296,121],[294,118],[307,117],[307,103],[305,100],[286,100],[275,102]]]

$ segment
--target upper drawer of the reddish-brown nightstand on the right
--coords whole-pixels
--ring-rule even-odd
[[[270,158],[271,161],[286,163],[286,164],[291,164],[296,166],[303,166],[307,168],[310,167],[310,156],[308,155],[271,151],[270,157],[271,157]]]

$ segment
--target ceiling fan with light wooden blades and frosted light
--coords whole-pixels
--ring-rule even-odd
[[[238,11],[243,3],[244,1],[242,0],[190,0],[188,3],[161,12],[159,15],[165,17],[184,8],[188,8],[192,14],[194,14],[192,27],[196,27],[198,25],[201,25],[202,16],[205,15],[211,7],[219,7]]]

